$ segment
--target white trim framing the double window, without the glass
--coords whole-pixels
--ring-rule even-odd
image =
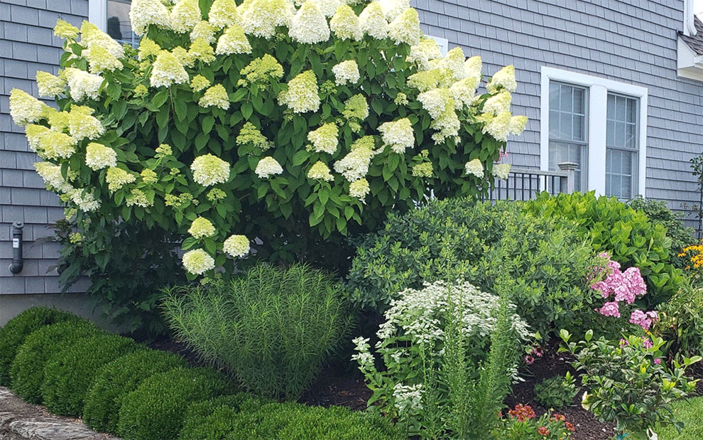
[[[588,189],[596,195],[605,194],[606,181],[606,117],[608,92],[636,97],[640,101],[638,182],[637,192],[643,197],[647,181],[647,97],[646,87],[625,84],[600,77],[569,72],[567,70],[542,67],[542,89],[540,106],[540,169],[549,169],[549,85],[550,81],[565,82],[589,88],[588,127]]]

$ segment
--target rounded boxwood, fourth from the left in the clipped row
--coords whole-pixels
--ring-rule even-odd
[[[85,397],[83,422],[92,429],[117,434],[124,398],[148,377],[185,367],[185,360],[158,350],[137,350],[100,367]]]

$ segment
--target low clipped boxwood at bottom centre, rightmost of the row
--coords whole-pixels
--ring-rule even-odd
[[[297,403],[271,403],[259,407],[254,412],[239,413],[221,407],[208,419],[213,422],[214,419],[233,419],[233,429],[229,436],[224,437],[227,440],[402,438],[391,424],[380,416],[351,412],[341,407],[321,408]]]

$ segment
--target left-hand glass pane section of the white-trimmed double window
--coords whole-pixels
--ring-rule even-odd
[[[574,162],[576,181],[574,188],[581,191],[588,183],[588,89],[551,82],[549,86],[549,169],[555,171],[557,163]]]

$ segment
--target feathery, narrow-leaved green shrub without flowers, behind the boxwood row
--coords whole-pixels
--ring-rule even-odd
[[[326,272],[258,264],[229,282],[167,289],[163,309],[178,338],[247,389],[295,399],[347,334],[342,296]]]

